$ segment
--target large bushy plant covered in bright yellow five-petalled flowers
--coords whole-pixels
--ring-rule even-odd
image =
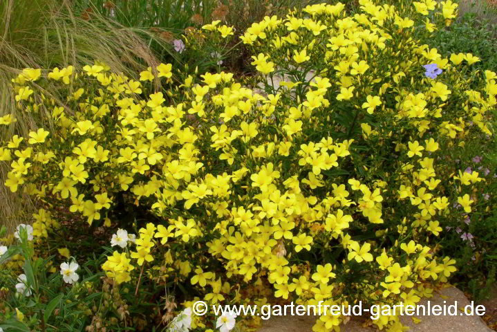
[[[456,270],[440,255],[442,234],[484,218],[495,201],[485,196],[494,170],[466,172],[455,159],[466,142],[491,135],[496,73],[471,72],[471,54],[444,59],[410,38],[433,10],[437,21],[422,28],[449,24],[451,1],[413,3],[416,21],[359,3],[353,17],[341,3],[320,4],[248,28],[242,40],[254,48],[265,93],[225,72],[154,91],[149,78],[169,79],[170,64],[142,82],[100,64],[25,69],[15,80],[19,109],[50,111],[52,127],[12,136],[0,159],[12,167],[10,190],[45,206],[34,216],[35,241],[60,234],[66,214],[91,230],[117,225],[100,265],[106,284],[128,303],[139,297],[135,307],[166,299],[164,311],[139,318],[113,313],[140,329],[232,329],[234,317],[192,315],[195,299],[407,305],[431,296]],[[204,30],[229,35],[216,23]],[[275,89],[268,81],[277,73],[289,78]],[[57,104],[44,84],[60,84],[67,100]],[[136,236],[117,217],[119,201],[149,213]],[[77,265],[64,264],[64,280],[77,281]],[[173,299],[176,286],[183,294]],[[344,320],[321,316],[314,331]],[[397,316],[374,324],[402,328]]]

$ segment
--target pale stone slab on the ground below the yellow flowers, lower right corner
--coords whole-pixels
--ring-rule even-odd
[[[442,296],[440,296],[442,295]],[[471,304],[467,297],[457,288],[449,287],[440,291],[440,295],[435,295],[429,299],[422,299],[419,304],[424,306],[430,302],[431,307],[435,305],[449,306],[456,304],[457,315],[426,315],[413,317],[421,320],[415,324],[411,317],[402,316],[401,321],[405,326],[409,326],[409,332],[492,332],[477,315],[465,315],[461,309]],[[445,303],[444,303],[445,302]],[[477,304],[474,304],[476,307]],[[263,326],[258,332],[311,332],[317,317],[315,316],[276,316],[263,321]],[[377,329],[373,327],[362,327],[363,317],[353,317],[347,324],[340,326],[341,332],[373,332]]]

